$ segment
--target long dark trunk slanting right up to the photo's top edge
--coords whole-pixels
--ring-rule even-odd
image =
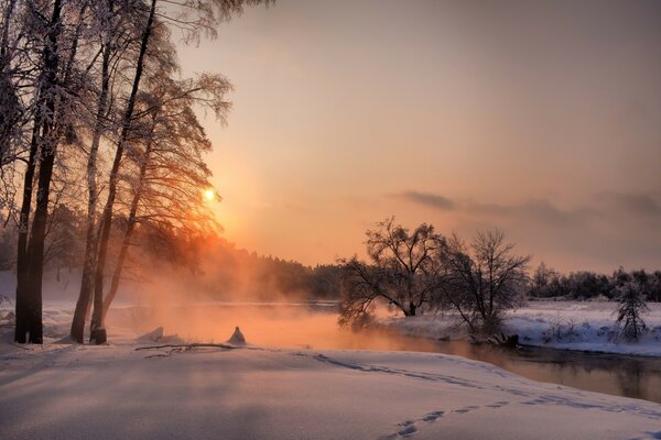
[[[115,161],[112,162],[112,168],[110,170],[110,179],[108,184],[108,200],[106,201],[106,206],[104,208],[104,213],[100,220],[100,232],[98,239],[98,254],[97,254],[97,264],[96,264],[96,273],[94,278],[94,311],[91,314],[91,323],[90,323],[90,341],[93,339],[96,340],[95,334],[96,330],[101,327],[102,315],[104,315],[104,270],[106,266],[106,255],[108,252],[108,239],[110,237],[110,226],[112,222],[112,207],[115,205],[115,197],[117,195],[117,176],[119,172],[119,165],[121,163],[121,157],[123,155],[124,144],[127,142],[131,119],[133,118],[133,108],[136,106],[136,96],[138,95],[138,90],[140,87],[140,78],[142,77],[142,68],[144,64],[144,56],[147,54],[147,47],[149,45],[149,37],[151,35],[152,25],[154,21],[154,13],[156,11],[156,0],[152,0],[149,18],[147,20],[147,25],[142,32],[141,42],[140,42],[140,54],[138,55],[138,63],[136,65],[136,77],[133,78],[133,87],[131,89],[131,95],[129,96],[129,101],[127,103],[127,109],[122,120],[121,134],[119,138],[119,142],[117,144],[117,151],[115,153]]]

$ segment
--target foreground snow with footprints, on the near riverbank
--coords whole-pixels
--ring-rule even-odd
[[[56,327],[71,319],[50,307],[46,316]],[[163,329],[150,334],[162,348],[151,349],[151,338],[109,331],[111,343],[99,346],[19,348],[3,334],[3,439],[661,437],[661,405],[539,383],[460,356],[185,349],[163,346]]]

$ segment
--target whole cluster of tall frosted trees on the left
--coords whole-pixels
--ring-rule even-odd
[[[210,143],[195,110],[224,121],[230,82],[183,77],[175,37],[195,43],[260,0],[4,0],[0,2],[0,178],[6,226],[15,226],[15,333],[41,343],[42,278],[61,206],[86,215],[83,278],[72,322],[83,342],[105,339],[108,249],[126,218],[112,278],[136,226],[215,226]],[[175,36],[176,35],[176,36]],[[55,241],[51,241],[51,244]],[[119,274],[118,274],[119,272]]]

